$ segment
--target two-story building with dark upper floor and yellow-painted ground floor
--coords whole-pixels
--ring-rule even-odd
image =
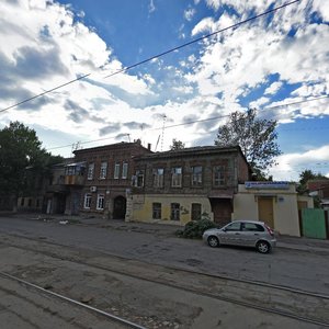
[[[192,147],[136,157],[126,220],[184,225],[231,220],[238,184],[251,179],[240,147]]]

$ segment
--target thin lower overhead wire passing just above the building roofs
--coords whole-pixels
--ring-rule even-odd
[[[329,94],[315,97],[310,100],[303,100],[303,101],[298,101],[298,102],[285,103],[285,104],[275,105],[275,106],[264,106],[264,107],[262,107],[262,110],[263,111],[264,110],[273,110],[273,109],[277,109],[277,107],[288,106],[288,105],[292,105],[292,104],[300,104],[300,103],[306,103],[306,102],[313,102],[313,101],[316,101],[316,100],[321,100],[321,99],[327,99],[327,98],[329,98]],[[202,120],[189,121],[189,122],[181,123],[181,124],[168,125],[168,126],[164,126],[164,128],[174,128],[174,127],[179,127],[179,126],[192,125],[192,124],[195,124],[195,123],[202,123],[202,122],[207,122],[207,121],[225,118],[225,117],[229,117],[229,115],[230,114],[225,114],[225,115],[217,115],[217,116],[212,116],[212,117],[202,118]],[[321,129],[326,129],[326,128],[327,127],[321,127]],[[146,129],[146,131],[161,131],[161,129],[163,129],[163,125],[161,127],[149,128],[149,129]],[[285,131],[287,131],[287,129],[285,129]],[[109,139],[113,139],[113,138],[114,137],[105,137],[105,138],[86,140],[86,141],[80,141],[80,145],[81,144],[90,144],[90,143],[101,141],[101,140],[109,140]],[[66,147],[71,147],[71,146],[72,146],[71,144],[64,145],[64,146],[56,146],[56,147],[48,148],[48,150],[66,148]]]

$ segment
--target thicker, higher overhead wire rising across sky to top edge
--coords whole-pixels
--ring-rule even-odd
[[[222,30],[215,31],[215,32],[213,32],[213,33],[206,34],[206,35],[204,35],[204,36],[197,37],[197,38],[195,38],[195,39],[193,39],[193,41],[191,41],[191,42],[184,43],[184,44],[182,44],[182,45],[180,45],[180,46],[177,46],[177,47],[174,47],[174,48],[168,49],[168,50],[166,50],[166,52],[163,52],[163,53],[160,53],[160,54],[158,54],[158,55],[151,56],[151,57],[146,58],[146,59],[144,59],[144,60],[141,60],[141,61],[138,61],[138,63],[136,63],[136,64],[129,65],[129,66],[124,67],[124,68],[122,68],[122,69],[120,69],[120,70],[116,70],[115,72],[113,72],[113,73],[111,73],[111,75],[109,75],[109,76],[105,76],[104,79],[110,78],[110,77],[113,77],[113,76],[116,76],[116,75],[122,73],[122,72],[125,72],[125,71],[127,71],[127,70],[131,70],[132,68],[135,68],[135,67],[137,67],[137,66],[140,66],[140,65],[143,65],[143,64],[145,64],[145,63],[151,61],[151,60],[154,60],[154,59],[156,59],[156,58],[162,57],[162,56],[168,55],[168,54],[170,54],[170,53],[177,52],[177,50],[179,50],[179,49],[181,49],[181,48],[184,48],[184,47],[186,47],[186,46],[190,46],[190,45],[192,45],[192,44],[194,44],[194,43],[197,43],[197,42],[201,42],[201,41],[203,41],[203,39],[209,38],[209,37],[212,37],[212,36],[214,36],[214,35],[217,35],[217,34],[219,34],[219,33],[223,33],[223,32],[225,32],[225,31],[228,31],[228,30],[231,30],[231,29],[236,29],[236,27],[238,27],[238,26],[240,26],[240,25],[242,25],[242,24],[246,24],[246,23],[251,22],[251,21],[253,21],[253,20],[257,20],[257,19],[259,19],[259,18],[261,18],[261,16],[264,16],[264,15],[268,15],[268,14],[270,14],[270,13],[273,13],[273,12],[275,12],[275,11],[277,11],[277,10],[281,10],[281,9],[283,9],[283,8],[285,8],[285,7],[288,7],[288,5],[294,4],[294,3],[296,3],[296,2],[299,2],[299,1],[302,1],[302,0],[294,0],[294,1],[291,1],[291,2],[286,2],[286,3],[282,4],[282,5],[275,7],[275,8],[271,9],[271,10],[268,10],[268,11],[265,11],[265,12],[263,12],[263,13],[260,13],[260,14],[258,14],[258,15],[251,16],[251,18],[249,18],[249,19],[247,19],[247,20],[245,20],[245,21],[241,21],[241,22],[239,22],[239,23],[232,24],[232,25],[230,25],[230,26],[227,26],[227,27],[224,27],[224,29],[222,29]],[[100,66],[99,68],[101,68],[101,67],[103,67],[103,66]],[[73,83],[73,82],[77,82],[77,81],[79,81],[79,80],[82,80],[82,79],[84,79],[84,78],[87,78],[87,77],[89,77],[89,76],[91,76],[91,73],[87,73],[87,75],[80,76],[80,77],[78,77],[78,78],[76,78],[76,79],[72,79],[72,80],[68,81],[68,82],[65,82],[65,83],[59,84],[59,86],[57,86],[57,87],[54,87],[54,88],[52,88],[52,89],[45,90],[44,92],[42,92],[42,93],[39,93],[39,94],[36,94],[36,95],[34,95],[34,97],[31,97],[31,98],[29,98],[29,99],[25,99],[25,100],[23,100],[23,101],[21,101],[21,102],[18,102],[18,103],[15,103],[15,104],[12,104],[12,105],[10,105],[10,106],[8,106],[8,107],[4,107],[4,109],[0,110],[0,113],[1,113],[1,112],[4,112],[4,111],[8,111],[8,110],[10,110],[10,109],[16,107],[16,106],[19,106],[19,105],[22,105],[22,104],[24,104],[24,103],[27,103],[27,102],[30,102],[30,101],[32,101],[32,100],[37,99],[37,98],[44,97],[44,95],[47,94],[47,93],[50,93],[50,92],[53,92],[53,91],[55,91],[55,90],[58,90],[58,89],[60,89],[60,88],[64,88],[64,87],[66,87],[66,86],[68,86],[68,84],[71,84],[71,83]]]

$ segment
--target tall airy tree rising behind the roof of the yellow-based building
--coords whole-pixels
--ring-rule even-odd
[[[268,169],[276,163],[275,157],[281,155],[276,124],[275,120],[257,118],[254,109],[234,112],[226,124],[219,126],[215,145],[239,145],[258,178],[263,179]]]

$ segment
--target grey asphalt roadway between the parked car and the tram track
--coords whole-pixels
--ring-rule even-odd
[[[100,250],[150,263],[256,280],[329,295],[328,254],[317,252],[276,248],[270,254],[260,254],[252,249],[243,248],[212,249],[201,240],[177,238],[170,231],[61,225],[58,222],[15,217],[1,217],[0,231]]]

